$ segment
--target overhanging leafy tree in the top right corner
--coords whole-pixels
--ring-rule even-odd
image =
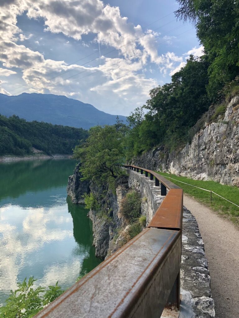
[[[207,91],[210,97],[239,73],[239,1],[177,0],[176,16],[197,29],[210,62]]]

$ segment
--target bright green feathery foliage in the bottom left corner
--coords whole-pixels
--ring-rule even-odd
[[[25,278],[15,291],[11,290],[6,305],[0,307],[0,318],[31,318],[64,292],[58,281],[47,290],[41,286],[33,288],[35,281],[33,276],[28,281]]]

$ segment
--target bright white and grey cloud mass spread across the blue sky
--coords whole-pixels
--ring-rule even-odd
[[[17,67],[28,85],[14,94],[23,91],[60,93],[77,99],[83,97],[84,102],[93,104],[97,101],[100,105],[95,106],[101,108],[105,105],[101,89],[105,92],[112,88],[108,98],[113,104],[118,105],[124,97],[127,107],[134,107],[137,97],[137,102],[143,104],[148,91],[157,85],[154,79],[145,78],[143,69],[148,62],[155,63],[163,75],[175,69],[175,63],[182,62],[182,58],[173,52],[158,55],[152,44],[156,43],[160,33],[143,31],[140,25],[129,23],[127,17],[121,16],[119,7],[105,5],[100,0],[15,0],[4,1],[1,6],[0,60],[6,68]],[[64,61],[45,59],[44,54],[18,44],[19,40],[23,42],[31,37],[24,35],[17,26],[17,17],[24,12],[29,18],[43,18],[45,31],[62,33],[81,41],[83,46],[89,46],[89,43],[82,41],[82,36],[94,34],[93,42],[99,42],[103,47],[102,56],[96,61],[98,65],[67,65]],[[165,36],[163,39],[171,40]],[[65,43],[68,42],[66,39]],[[40,46],[38,40],[35,43]],[[106,54],[109,47],[115,49],[111,59]],[[88,78],[91,74],[94,75]]]

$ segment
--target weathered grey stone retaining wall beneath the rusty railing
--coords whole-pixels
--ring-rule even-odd
[[[163,201],[161,188],[145,175],[127,170],[130,188],[138,190],[142,200],[142,214],[147,225]],[[214,300],[210,289],[210,275],[204,243],[194,216],[184,207],[181,263],[181,305],[179,318],[215,317]]]

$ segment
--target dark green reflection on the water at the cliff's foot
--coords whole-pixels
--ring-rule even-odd
[[[73,235],[79,246],[79,252],[82,251],[82,245],[88,250],[88,255],[83,260],[82,268],[79,275],[89,273],[102,262],[95,256],[95,247],[93,244],[92,222],[87,217],[89,210],[85,209],[82,204],[74,204],[70,197],[67,197],[68,211],[73,219]],[[77,249],[75,252],[78,252]]]

